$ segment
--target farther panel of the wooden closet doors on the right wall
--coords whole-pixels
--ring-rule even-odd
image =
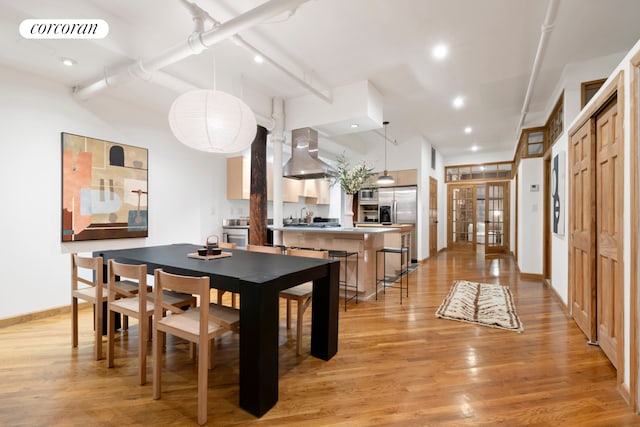
[[[595,324],[595,144],[588,121],[569,141],[569,300],[573,319],[590,342]]]

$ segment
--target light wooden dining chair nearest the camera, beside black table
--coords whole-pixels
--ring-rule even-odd
[[[169,333],[197,344],[198,348],[198,423],[207,422],[208,365],[212,364],[215,337],[228,329],[215,322],[209,315],[209,277],[179,276],[155,270],[154,281],[157,297],[153,317],[153,398],[160,399],[162,337]],[[198,296],[200,308],[182,310],[164,301],[162,291],[172,289],[177,292]],[[163,310],[171,314],[164,317]]]

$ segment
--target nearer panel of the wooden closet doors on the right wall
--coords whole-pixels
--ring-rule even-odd
[[[622,342],[622,135],[614,100],[596,117],[596,307],[598,343],[617,367]]]

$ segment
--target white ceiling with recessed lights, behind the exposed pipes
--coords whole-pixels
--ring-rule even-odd
[[[190,0],[224,23],[265,0]],[[559,0],[524,126],[548,114],[564,66],[623,53],[640,39],[638,0]],[[512,150],[548,1],[311,0],[239,35],[291,72],[331,93],[369,80],[383,96],[389,137],[425,138],[445,157]],[[102,40],[26,40],[28,18],[100,18]],[[70,88],[95,82],[120,66],[153,58],[184,43],[193,30],[181,0],[0,0],[0,63]],[[431,49],[444,42],[449,56]],[[290,99],[309,92],[269,64],[257,65],[230,41],[162,69],[199,87],[230,84],[240,91]],[[77,61],[63,67],[59,57]],[[602,76],[606,77],[606,76]],[[140,79],[94,96],[109,96],[166,114],[175,90]],[[236,95],[238,95],[236,93]],[[462,95],[466,105],[452,108]],[[538,120],[538,121],[535,121]],[[543,119],[544,120],[544,119]],[[473,133],[466,135],[465,126]],[[358,145],[373,131],[334,138]],[[378,131],[380,132],[380,131]]]

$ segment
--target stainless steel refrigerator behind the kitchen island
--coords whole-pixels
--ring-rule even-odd
[[[413,224],[411,254],[415,258],[418,187],[379,187],[378,207],[378,219],[382,224]]]

